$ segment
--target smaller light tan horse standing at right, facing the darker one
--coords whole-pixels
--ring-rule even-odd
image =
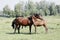
[[[36,33],[36,27],[37,26],[43,26],[45,28],[45,30],[46,30],[46,33],[47,33],[48,28],[46,26],[46,21],[42,17],[40,17],[40,19],[38,19],[35,16],[33,16],[32,20],[33,20],[33,25],[35,27],[35,33]]]

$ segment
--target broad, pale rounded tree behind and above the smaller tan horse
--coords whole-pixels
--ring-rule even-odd
[[[40,13],[40,14],[43,14],[45,16],[47,16],[49,13],[49,4],[48,2],[46,1],[40,1],[39,3],[36,3],[36,8],[37,8],[37,11]],[[43,12],[42,12],[43,11]],[[42,12],[42,13],[41,13]]]

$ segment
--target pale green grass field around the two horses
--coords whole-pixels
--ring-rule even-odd
[[[44,27],[37,27],[37,33],[34,33],[32,26],[32,34],[29,33],[28,26],[21,29],[21,34],[13,34],[11,22],[14,18],[0,17],[0,40],[60,40],[60,17],[47,16],[48,33],[45,33]]]

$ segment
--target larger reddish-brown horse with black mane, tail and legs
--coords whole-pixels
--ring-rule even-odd
[[[34,14],[34,16],[36,18],[39,18],[39,14]],[[18,29],[18,33],[20,33],[19,30],[20,30],[21,26],[29,26],[29,30],[30,30],[30,33],[31,33],[31,26],[33,24],[32,17],[33,17],[33,15],[30,16],[30,17],[26,17],[26,18],[24,18],[24,17],[16,18],[15,21],[12,22],[12,27],[15,29],[14,33],[16,33],[16,29]]]

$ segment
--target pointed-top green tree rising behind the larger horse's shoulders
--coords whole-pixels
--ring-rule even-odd
[[[32,1],[28,1],[28,3],[26,3],[25,5],[25,13],[27,15],[32,15],[36,12],[36,5],[32,2]]]

